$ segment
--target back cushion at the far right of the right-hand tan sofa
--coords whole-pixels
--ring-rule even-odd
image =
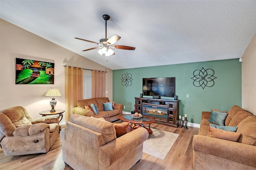
[[[236,132],[241,133],[238,142],[256,146],[256,116],[248,116],[237,125]]]

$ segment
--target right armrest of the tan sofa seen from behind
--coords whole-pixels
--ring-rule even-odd
[[[101,146],[98,152],[98,161],[106,167],[113,164],[123,155],[138,147],[148,138],[148,130],[137,128]]]

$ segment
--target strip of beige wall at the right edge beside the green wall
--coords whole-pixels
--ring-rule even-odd
[[[242,56],[242,107],[256,115],[256,34]]]

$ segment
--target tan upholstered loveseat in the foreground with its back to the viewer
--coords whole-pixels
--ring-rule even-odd
[[[75,170],[129,170],[142,158],[145,128],[116,138],[114,124],[72,114],[60,131],[62,158]]]

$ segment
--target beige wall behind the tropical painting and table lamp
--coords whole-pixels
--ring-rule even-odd
[[[54,85],[16,85],[15,58],[53,61]],[[45,97],[50,87],[58,87],[62,97],[56,97],[56,109],[65,110],[65,78],[63,65],[105,70],[106,97],[112,101],[112,70],[55,43],[41,38],[5,20],[0,20],[0,110],[23,106],[33,119],[40,111],[50,108],[50,97]],[[65,113],[62,121],[65,121]]]

